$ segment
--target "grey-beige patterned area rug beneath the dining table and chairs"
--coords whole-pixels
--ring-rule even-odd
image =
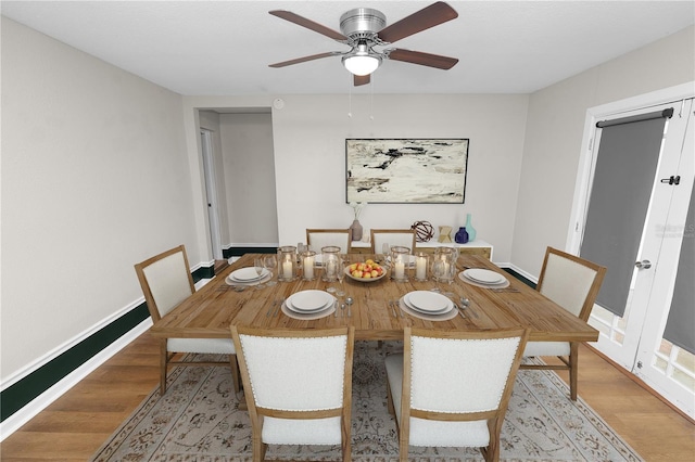
[[[383,358],[402,350],[396,342],[380,348],[356,342],[353,367],[352,454],[354,461],[395,462],[395,422],[387,411]],[[205,356],[201,355],[201,360]],[[206,358],[211,359],[211,358]],[[214,358],[213,358],[214,359]],[[462,377],[465,380],[466,377]],[[281,380],[281,377],[278,377]],[[467,380],[475,380],[468,377]],[[177,368],[164,397],[159,387],[109,438],[92,461],[231,462],[251,461],[251,426],[231,387],[227,368]],[[475,448],[415,448],[410,460],[482,461]],[[339,461],[340,448],[268,447],[268,460]],[[581,398],[552,371],[520,371],[505,418],[501,460],[641,461]]]

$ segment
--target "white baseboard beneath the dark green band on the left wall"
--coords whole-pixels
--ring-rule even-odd
[[[27,423],[31,418],[46,409],[51,402],[60,398],[65,392],[75,386],[75,384],[85,378],[89,373],[93,372],[109,358],[114,356],[126,345],[136,339],[140,334],[150,329],[151,325],[152,319],[148,318],[143,320],[79,368],[67,374],[55,385],[34,398],[28,405],[5,419],[0,423],[0,441],[16,432],[17,428]]]

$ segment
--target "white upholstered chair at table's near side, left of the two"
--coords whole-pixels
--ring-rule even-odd
[[[340,445],[351,460],[354,328],[231,326],[251,419],[253,460],[267,445]]]

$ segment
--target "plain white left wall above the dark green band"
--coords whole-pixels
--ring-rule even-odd
[[[201,260],[181,97],[1,26],[4,382],[141,299],[134,264]]]

